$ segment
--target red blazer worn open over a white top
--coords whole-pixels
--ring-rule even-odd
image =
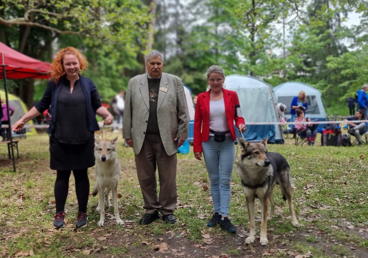
[[[224,93],[225,113],[227,117],[227,124],[233,140],[236,140],[236,133],[234,129],[234,120],[236,127],[240,124],[245,124],[244,118],[241,117],[239,98],[236,92],[232,90],[222,89]],[[197,98],[197,105],[195,106],[194,115],[194,153],[202,152],[202,141],[208,141],[209,136],[209,93],[200,93]]]

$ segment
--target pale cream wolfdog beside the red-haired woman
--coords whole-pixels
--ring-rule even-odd
[[[107,205],[111,207],[109,193],[112,191],[114,203],[114,215],[117,224],[124,224],[120,219],[117,205],[117,183],[120,176],[120,163],[117,159],[115,144],[117,137],[112,140],[95,139],[96,158],[96,184],[93,188],[93,196],[99,193],[100,200],[96,211],[100,212],[99,226],[103,226],[105,221],[105,199]]]

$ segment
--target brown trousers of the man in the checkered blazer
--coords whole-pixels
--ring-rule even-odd
[[[135,155],[135,166],[146,213],[160,211],[162,215],[166,215],[174,212],[177,198],[176,163],[176,153],[167,155],[160,135],[146,134],[141,151]],[[159,173],[159,196],[157,196],[156,166]]]

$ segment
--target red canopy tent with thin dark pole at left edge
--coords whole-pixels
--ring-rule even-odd
[[[0,79],[4,80],[7,114],[10,122],[8,90],[6,79],[47,79],[50,78],[51,64],[38,61],[32,57],[19,53],[0,42]],[[11,128],[10,128],[11,130]],[[13,138],[10,137],[11,157],[15,172],[15,158],[13,149]]]

